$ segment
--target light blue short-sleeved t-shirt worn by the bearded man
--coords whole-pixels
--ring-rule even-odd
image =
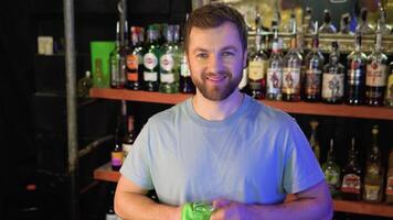
[[[295,120],[248,96],[222,121],[201,118],[191,98],[151,117],[120,173],[174,206],[279,204],[323,179]]]

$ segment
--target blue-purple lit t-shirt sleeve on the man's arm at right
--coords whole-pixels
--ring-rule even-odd
[[[288,139],[284,189],[287,194],[296,194],[320,183],[325,176],[305,134],[295,121]]]

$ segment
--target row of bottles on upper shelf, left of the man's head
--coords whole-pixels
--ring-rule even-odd
[[[125,43],[120,45],[117,23],[116,48],[110,54],[111,88],[166,94],[194,92],[180,42],[179,25],[149,25],[146,41],[142,28],[131,26],[130,30],[129,36],[126,22]],[[161,43],[160,36],[163,36],[164,43]]]

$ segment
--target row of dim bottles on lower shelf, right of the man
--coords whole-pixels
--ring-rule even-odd
[[[316,135],[318,122],[311,121],[310,127],[310,146],[317,160],[320,161],[320,145]],[[351,147],[343,166],[334,160],[334,142],[330,139],[327,160],[321,164],[321,168],[333,198],[393,204],[393,147],[389,155],[386,170],[382,165],[381,150],[378,144],[379,127],[374,125],[371,133],[372,145],[364,169],[359,164],[359,150],[354,138],[351,139]]]

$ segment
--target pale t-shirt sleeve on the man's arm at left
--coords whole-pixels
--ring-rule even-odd
[[[149,130],[148,122],[134,142],[132,148],[120,168],[123,176],[146,190],[153,189],[149,160]]]

